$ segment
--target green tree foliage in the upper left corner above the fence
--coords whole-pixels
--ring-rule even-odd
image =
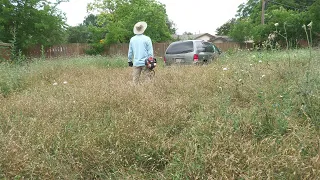
[[[0,40],[10,42],[16,36],[14,43],[19,50],[65,41],[65,18],[56,8],[61,2],[0,0]]]

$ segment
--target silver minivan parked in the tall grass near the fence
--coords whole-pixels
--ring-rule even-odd
[[[214,48],[203,40],[186,40],[171,43],[164,55],[166,65],[207,64],[214,59]]]

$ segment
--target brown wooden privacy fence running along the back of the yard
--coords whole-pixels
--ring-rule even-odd
[[[165,51],[170,43],[154,43],[153,50],[156,57],[162,57],[165,54]],[[222,51],[227,51],[229,49],[248,49],[252,48],[252,44],[242,44],[236,42],[228,43],[216,43],[216,46]],[[49,48],[42,49],[41,46],[35,46],[28,49],[27,55],[30,57],[39,58],[45,56],[46,58],[54,58],[61,56],[79,56],[84,55],[85,50],[89,48],[89,44],[64,44],[52,46]],[[119,43],[113,44],[109,47],[106,47],[104,55],[121,55],[126,56],[128,54],[129,44],[128,43]]]

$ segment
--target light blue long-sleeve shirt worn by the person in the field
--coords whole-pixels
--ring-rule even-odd
[[[130,39],[128,62],[133,59],[133,66],[145,66],[145,60],[153,57],[153,47],[150,37],[143,34]]]

